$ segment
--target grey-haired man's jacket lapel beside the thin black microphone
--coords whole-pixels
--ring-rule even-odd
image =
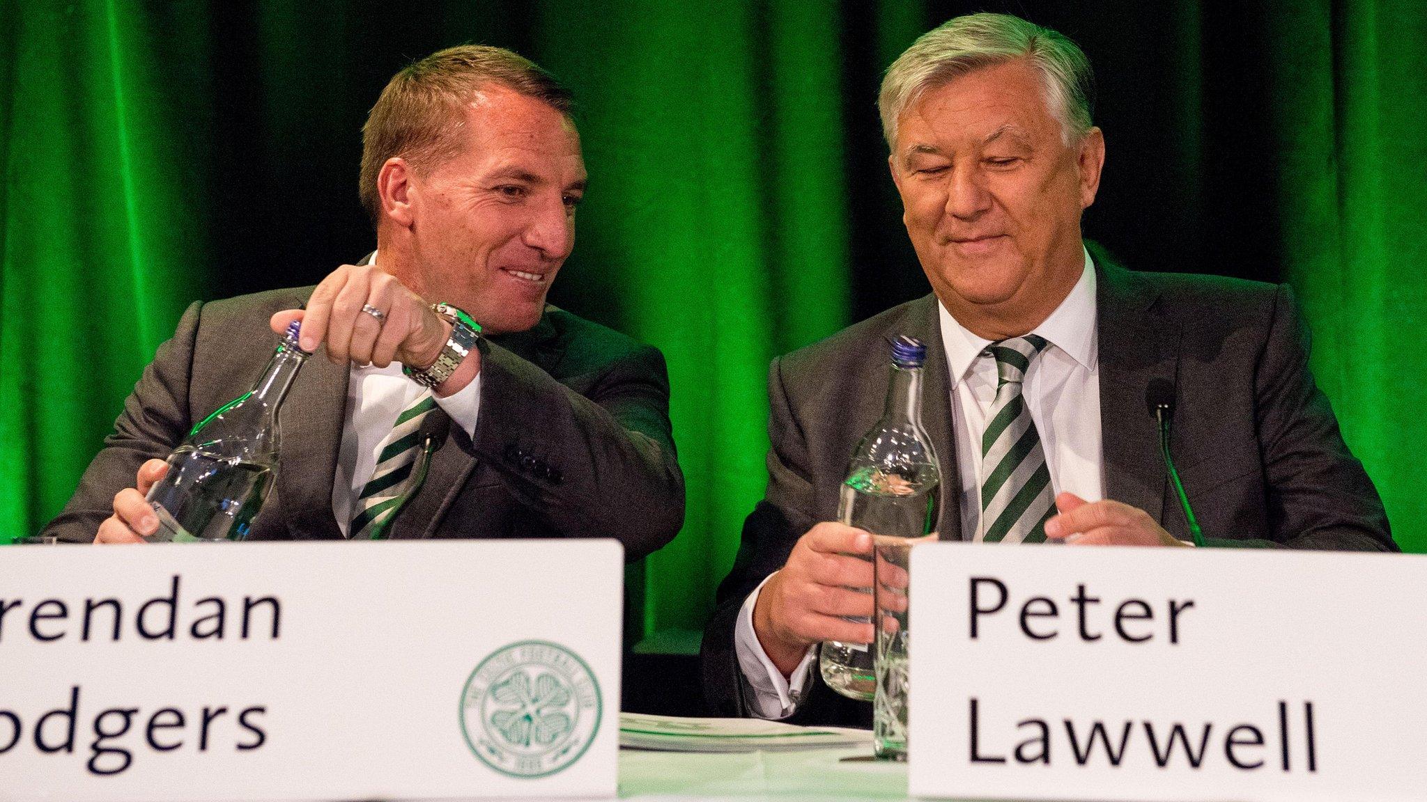
[[[1103,253],[1093,255],[1104,497],[1163,522],[1167,479],[1144,391],[1154,378],[1174,382],[1180,330],[1160,314],[1157,290]]]

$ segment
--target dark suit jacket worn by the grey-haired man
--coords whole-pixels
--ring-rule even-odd
[[[1170,451],[1209,545],[1396,549],[1377,491],[1309,372],[1307,333],[1286,285],[1132,273],[1093,245],[1092,254],[1106,498],[1139,507],[1189,539],[1146,404],[1146,388],[1160,378],[1174,387]],[[895,334],[926,342],[923,424],[943,455],[938,531],[962,539],[935,295],[773,360],[768,492],[743,524],[704,635],[704,686],[715,715],[751,715],[733,651],[739,606],[803,532],[836,519],[852,448],[882,414],[886,340]],[[816,668],[812,674],[791,721],[870,724],[869,702],[839,696]]]

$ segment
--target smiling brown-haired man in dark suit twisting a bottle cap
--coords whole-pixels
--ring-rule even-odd
[[[611,537],[684,521],[658,350],[545,303],[585,193],[571,98],[462,46],[397,74],[367,121],[377,251],[317,287],[194,303],[46,534],[143,542],[164,457],[257,378],[274,331],[317,354],[283,407],[251,539]]]

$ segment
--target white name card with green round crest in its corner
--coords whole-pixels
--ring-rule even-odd
[[[14,547],[0,801],[614,796],[615,541]]]

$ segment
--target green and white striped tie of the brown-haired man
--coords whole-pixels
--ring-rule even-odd
[[[412,475],[421,455],[421,421],[435,408],[431,391],[421,394],[402,410],[391,432],[382,438],[377,451],[377,469],[357,497],[358,512],[348,528],[351,539],[385,538],[401,505],[421,487],[425,465],[420,465],[421,471]]]

